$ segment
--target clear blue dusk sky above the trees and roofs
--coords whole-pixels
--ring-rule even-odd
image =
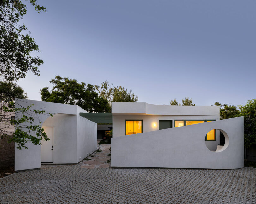
[[[28,4],[28,2],[25,2]],[[256,1],[52,1],[24,23],[43,59],[41,76],[18,82],[29,99],[60,75],[108,80],[166,104],[186,96],[196,105],[244,105],[255,98]]]

